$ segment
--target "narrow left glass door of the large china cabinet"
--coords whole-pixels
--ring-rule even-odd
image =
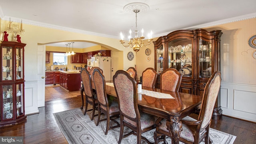
[[[161,74],[164,71],[164,48],[161,45],[156,49],[156,72]]]

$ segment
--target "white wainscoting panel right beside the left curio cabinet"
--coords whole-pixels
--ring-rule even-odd
[[[38,113],[37,81],[25,82],[25,114]]]

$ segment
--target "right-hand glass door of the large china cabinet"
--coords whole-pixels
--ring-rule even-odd
[[[212,75],[212,42],[199,39],[199,78]]]

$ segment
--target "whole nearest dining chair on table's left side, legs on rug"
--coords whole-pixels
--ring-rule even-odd
[[[126,138],[131,134],[137,136],[137,144],[141,143],[141,139],[150,143],[141,134],[154,129],[156,127],[156,120],[154,116],[139,111],[135,79],[127,71],[118,70],[113,76],[113,82],[120,111],[120,136],[118,144],[121,143],[122,138]],[[124,126],[130,128],[132,131],[123,135]]]

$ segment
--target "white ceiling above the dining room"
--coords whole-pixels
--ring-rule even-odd
[[[0,16],[111,38],[119,38],[122,32],[128,38],[129,29],[135,29],[135,13],[125,12],[124,6],[132,2],[149,6],[146,12],[138,13],[137,25],[139,31],[144,29],[144,36],[152,30],[153,38],[174,30],[256,15],[256,0],[0,0]],[[76,42],[75,47],[79,47]]]

